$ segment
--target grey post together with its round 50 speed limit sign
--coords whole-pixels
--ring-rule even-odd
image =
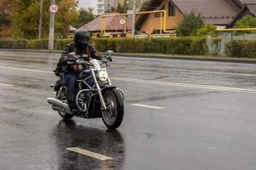
[[[49,6],[49,51],[54,50],[54,39],[55,39],[55,13],[58,11],[57,5],[55,5],[55,0],[51,0]]]

